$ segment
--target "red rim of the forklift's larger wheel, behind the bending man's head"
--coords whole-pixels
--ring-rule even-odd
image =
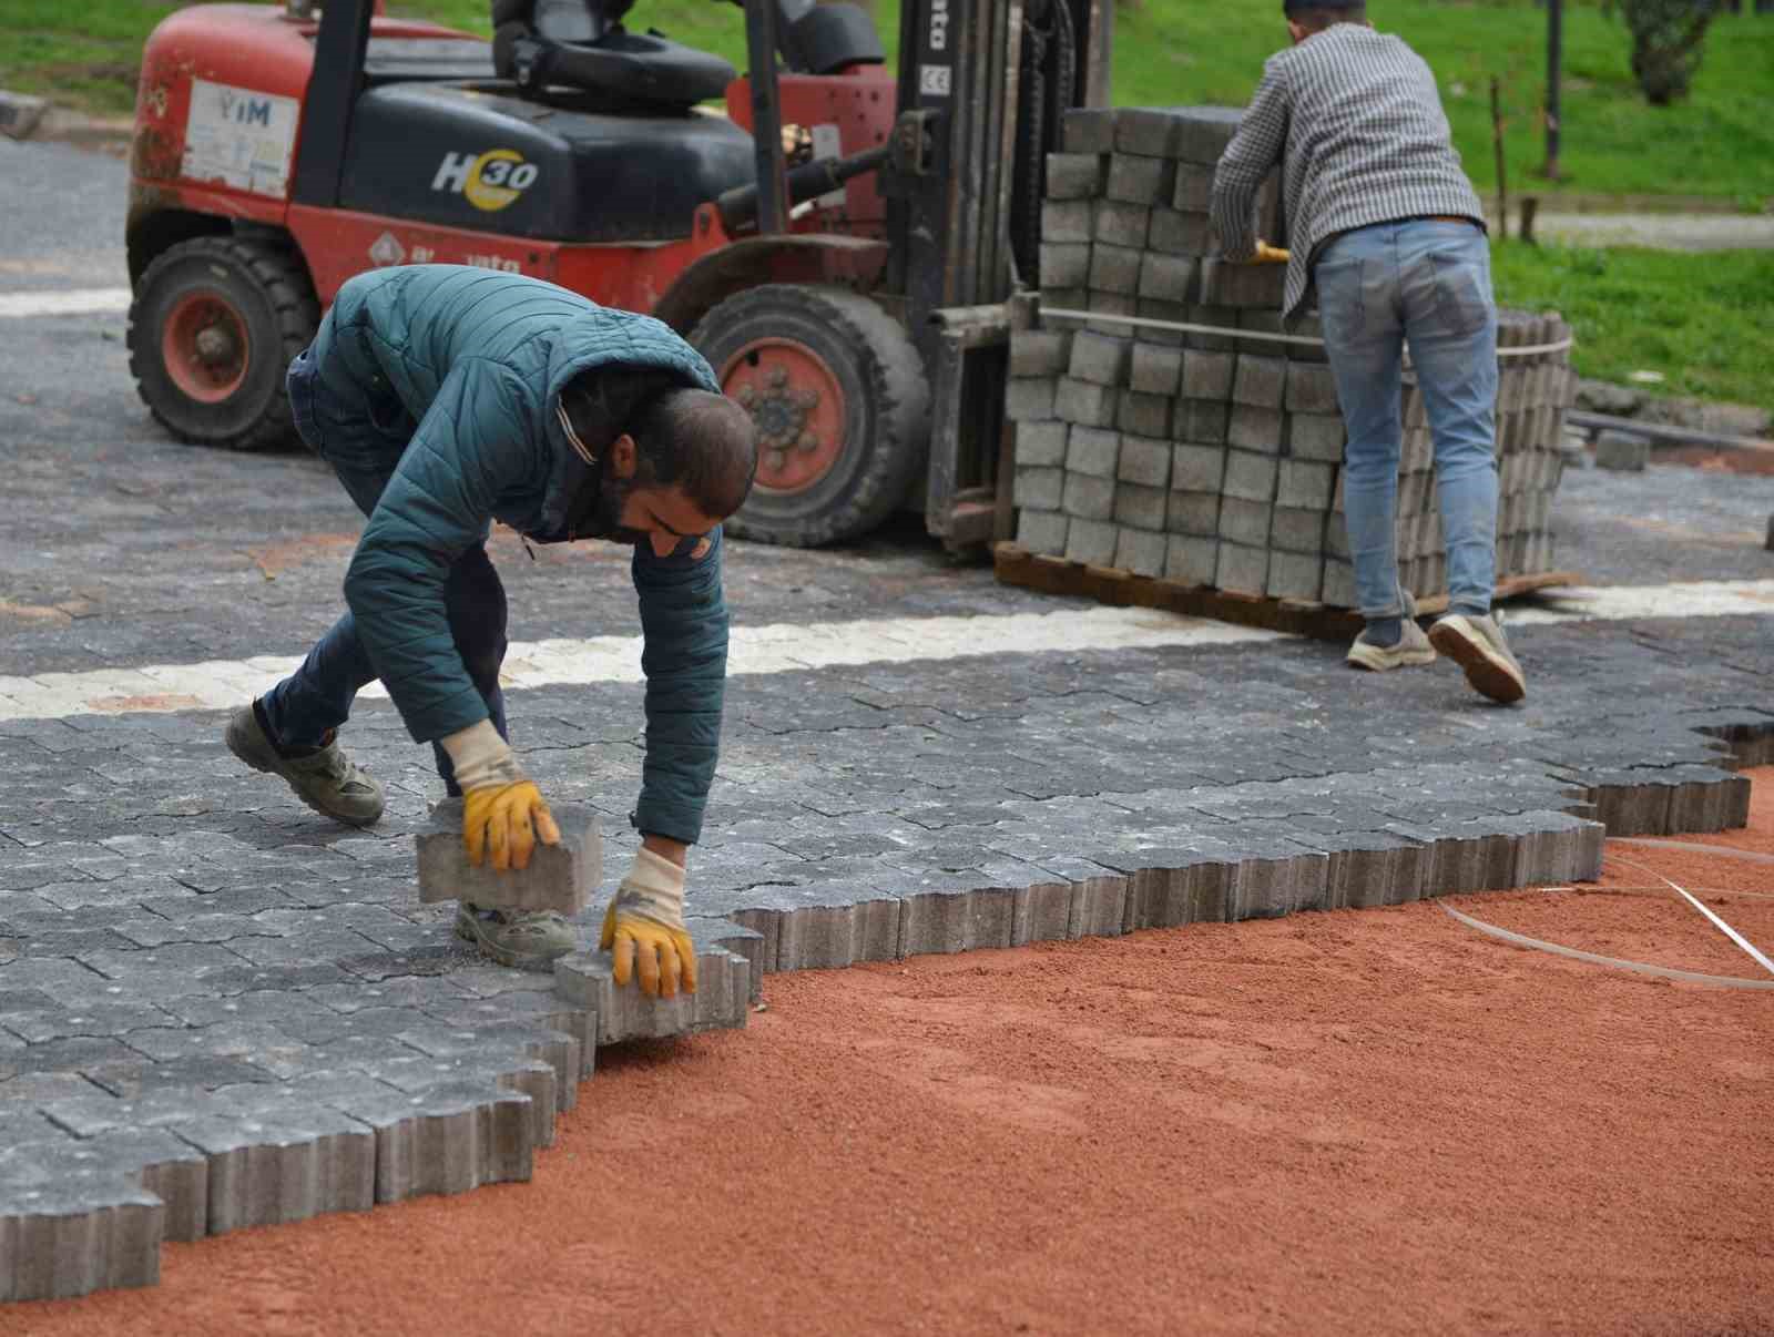
[[[844,452],[844,390],[825,358],[805,344],[747,344],[720,369],[720,388],[757,424],[757,488],[805,491]]]

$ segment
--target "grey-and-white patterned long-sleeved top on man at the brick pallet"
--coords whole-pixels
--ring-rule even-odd
[[[1277,161],[1293,252],[1284,316],[1306,300],[1313,261],[1339,232],[1421,216],[1485,223],[1435,74],[1403,41],[1366,25],[1336,23],[1263,66],[1213,176],[1213,227],[1231,259],[1256,250],[1256,197]]]

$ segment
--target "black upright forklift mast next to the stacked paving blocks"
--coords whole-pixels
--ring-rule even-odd
[[[930,372],[924,521],[951,548],[1009,537],[1009,330],[1064,113],[1109,103],[1112,16],[1114,0],[901,9],[887,287]]]

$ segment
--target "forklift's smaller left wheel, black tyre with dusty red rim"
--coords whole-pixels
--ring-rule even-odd
[[[206,236],[154,257],[130,305],[130,371],[149,411],[195,445],[294,440],[284,374],[319,303],[302,257],[273,241]]]

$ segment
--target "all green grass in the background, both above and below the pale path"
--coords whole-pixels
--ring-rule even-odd
[[[41,92],[106,115],[128,115],[142,43],[174,4],[154,0],[0,0],[0,87]],[[488,32],[488,0],[396,0],[403,14]],[[898,0],[875,0],[892,59]],[[1740,206],[1774,197],[1774,16],[1723,16],[1707,39],[1692,98],[1653,108],[1627,66],[1618,20],[1568,5],[1565,168],[1561,190],[1707,195]],[[1495,188],[1490,76],[1503,80],[1511,190],[1552,193],[1531,170],[1542,161],[1540,99],[1545,11],[1529,0],[1448,4],[1377,0],[1382,28],[1405,35],[1435,67],[1465,167]],[[710,0],[640,0],[635,27],[745,66],[740,11]],[[1272,0],[1139,0],[1116,30],[1116,101],[1137,105],[1244,103],[1263,59],[1284,43]],[[1556,204],[1549,202],[1549,207]],[[1511,307],[1556,307],[1575,324],[1584,376],[1623,379],[1659,371],[1664,394],[1737,399],[1774,408],[1774,255],[1680,255],[1650,250],[1497,248],[1497,294]]]

